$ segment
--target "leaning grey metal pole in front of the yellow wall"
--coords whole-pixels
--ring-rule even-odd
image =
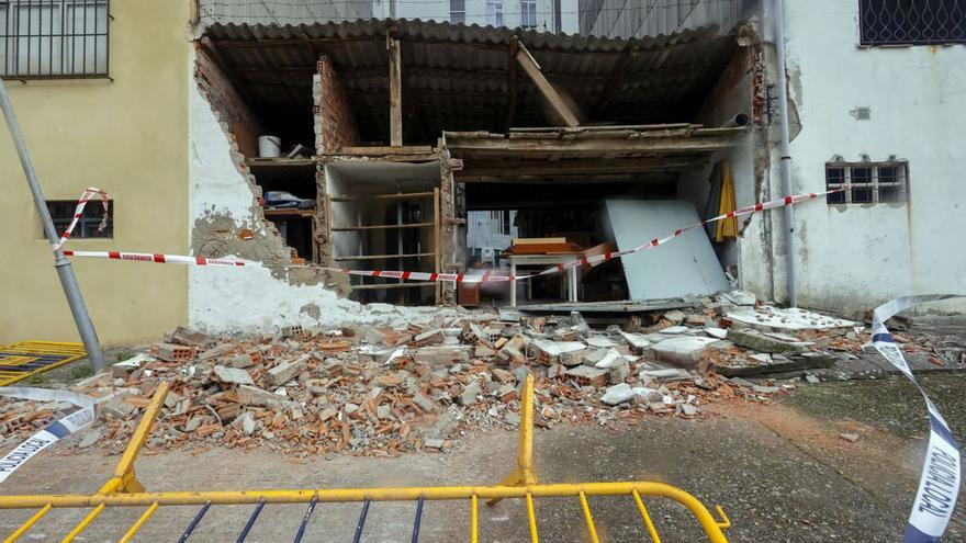
[[[41,184],[37,181],[34,165],[31,162],[30,155],[26,151],[26,143],[23,140],[20,124],[16,122],[13,106],[10,103],[10,95],[7,94],[7,86],[2,80],[0,80],[0,108],[3,109],[3,117],[7,118],[10,137],[16,147],[20,163],[23,166],[23,173],[26,176],[26,182],[30,185],[31,193],[33,193],[34,204],[37,206],[41,223],[44,225],[44,233],[47,235],[47,239],[50,240],[50,245],[54,245],[58,240],[57,230],[54,228],[54,222],[50,219],[47,201],[44,199],[44,193],[41,192]],[[80,286],[77,284],[77,278],[74,276],[74,269],[70,268],[70,261],[64,256],[64,251],[59,249],[54,251],[54,268],[57,270],[57,276],[60,279],[64,294],[67,296],[70,313],[74,314],[74,323],[77,324],[77,331],[80,333],[80,340],[83,342],[85,350],[87,350],[88,359],[93,364],[94,371],[100,373],[108,369],[108,362],[101,352],[98,333],[94,331],[94,325],[91,323],[90,315],[87,313],[87,306],[83,304],[83,297],[80,295]]]

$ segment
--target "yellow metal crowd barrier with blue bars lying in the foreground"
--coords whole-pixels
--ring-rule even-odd
[[[582,484],[538,484],[533,473],[533,377],[528,376],[523,387],[520,408],[520,439],[517,465],[510,475],[498,485],[492,486],[442,486],[442,487],[394,487],[394,488],[318,488],[318,489],[272,489],[272,490],[210,490],[210,491],[167,491],[148,493],[137,480],[134,473],[134,462],[137,454],[150,432],[164,398],[168,392],[168,384],[158,386],[150,405],[145,410],[134,437],[113,476],[93,495],[35,495],[35,496],[0,496],[0,509],[34,509],[40,510],[26,522],[11,533],[4,543],[16,541],[31,527],[40,521],[53,508],[89,508],[93,509],[81,520],[65,538],[64,542],[72,541],[85,528],[97,519],[108,507],[147,507],[147,510],[121,538],[121,542],[130,541],[137,531],[150,519],[161,506],[203,506],[194,520],[189,524],[179,541],[186,541],[207,509],[213,505],[242,505],[256,504],[257,508],[242,532],[238,541],[244,541],[251,525],[255,523],[261,508],[266,504],[308,504],[308,511],[302,521],[296,543],[302,541],[313,508],[318,502],[350,502],[363,504],[362,514],[357,525],[359,541],[369,504],[372,501],[418,501],[467,499],[471,504],[470,512],[470,541],[479,541],[479,513],[478,500],[488,499],[491,504],[501,499],[524,499],[527,508],[530,540],[539,541],[537,529],[537,516],[533,509],[535,498],[579,498],[587,524],[587,531],[592,542],[598,541],[594,519],[591,514],[588,497],[592,496],[627,496],[631,498],[641,513],[644,525],[651,540],[660,543],[656,528],[648,513],[641,496],[654,496],[667,498],[686,507],[700,524],[701,529],[711,543],[727,543],[722,532],[731,525],[720,507],[716,507],[721,521],[715,519],[710,511],[694,496],[679,488],[663,483],[627,482],[627,483],[582,483]],[[422,513],[422,507],[417,508]],[[418,540],[419,513],[415,521],[413,541]]]

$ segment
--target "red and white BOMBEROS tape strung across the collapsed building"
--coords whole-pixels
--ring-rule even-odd
[[[97,191],[97,189],[88,189],[88,191]],[[834,192],[841,192],[843,189],[835,189],[832,191],[825,192],[811,192],[808,194],[796,194],[794,196],[785,196],[778,200],[772,200],[770,202],[760,202],[754,205],[750,205],[748,207],[741,207],[739,210],[734,210],[733,212],[726,213],[723,215],[718,215],[717,217],[709,218],[707,220],[700,220],[698,223],[694,223],[687,225],[683,228],[678,228],[674,230],[669,236],[663,238],[654,238],[643,245],[634,247],[633,249],[629,249],[626,251],[610,251],[604,254],[594,254],[592,257],[581,257],[575,258],[574,260],[563,263],[557,264],[546,270],[542,270],[537,273],[530,273],[527,275],[506,275],[499,273],[483,273],[481,275],[465,274],[465,273],[429,273],[429,272],[411,272],[411,271],[396,271],[396,270],[349,270],[347,268],[327,268],[314,264],[306,264],[304,267],[300,265],[290,265],[288,268],[314,268],[318,270],[329,270],[329,271],[338,271],[341,273],[348,273],[349,275],[360,275],[366,278],[386,278],[386,279],[402,279],[404,281],[446,281],[446,282],[454,282],[454,283],[497,283],[497,282],[506,282],[506,281],[518,281],[530,278],[536,278],[540,275],[550,275],[553,273],[559,273],[564,270],[570,270],[571,268],[577,268],[581,265],[592,265],[598,264],[600,262],[606,262],[607,260],[611,260],[615,258],[625,257],[627,254],[633,254],[636,252],[640,252],[647,249],[651,249],[671,241],[672,239],[682,236],[684,233],[692,230],[694,228],[701,228],[705,225],[710,223],[716,223],[718,220],[724,220],[727,218],[741,217],[744,215],[751,215],[754,213],[759,213],[765,210],[774,210],[776,207],[783,207],[786,205],[795,205],[799,202],[805,202],[807,200],[815,200],[819,196],[824,196],[827,194],[831,194]],[[98,191],[104,194],[104,205],[106,210],[106,193],[103,191]],[[88,192],[85,192],[87,195]],[[90,200],[90,199],[88,199]],[[85,202],[86,203],[86,202]],[[83,211],[82,205],[78,204],[78,210]],[[106,213],[106,211],[105,211]],[[75,218],[76,222],[76,218]],[[71,224],[71,227],[74,225]],[[65,233],[64,240],[67,239],[69,235],[70,228]],[[63,245],[63,241],[61,241]],[[56,249],[56,248],[55,248]],[[88,258],[106,258],[113,260],[132,260],[138,262],[155,262],[155,263],[168,263],[168,264],[188,264],[188,265],[227,265],[227,267],[238,267],[250,264],[250,262],[245,262],[244,260],[229,260],[229,259],[212,259],[205,257],[186,257],[181,254],[159,254],[159,253],[146,253],[146,252],[120,252],[120,251],[64,251],[64,254],[68,257],[88,257]],[[262,264],[263,265],[263,264]],[[268,267],[266,267],[268,268]]]

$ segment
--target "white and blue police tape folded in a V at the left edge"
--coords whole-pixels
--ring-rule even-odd
[[[97,398],[70,391],[8,386],[0,387],[0,396],[36,401],[67,401],[80,408],[50,422],[3,456],[0,460],[0,484],[34,455],[57,441],[77,433],[78,430],[91,426],[98,418]]]

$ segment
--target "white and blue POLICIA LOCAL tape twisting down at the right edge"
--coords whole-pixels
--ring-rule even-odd
[[[872,344],[892,365],[906,375],[922,393],[929,409],[929,445],[925,464],[919,479],[919,491],[912,504],[903,543],[939,543],[953,516],[959,496],[959,443],[953,438],[950,425],[916,381],[902,350],[892,340],[886,320],[894,315],[926,302],[966,297],[953,294],[906,296],[878,306],[872,325]]]

